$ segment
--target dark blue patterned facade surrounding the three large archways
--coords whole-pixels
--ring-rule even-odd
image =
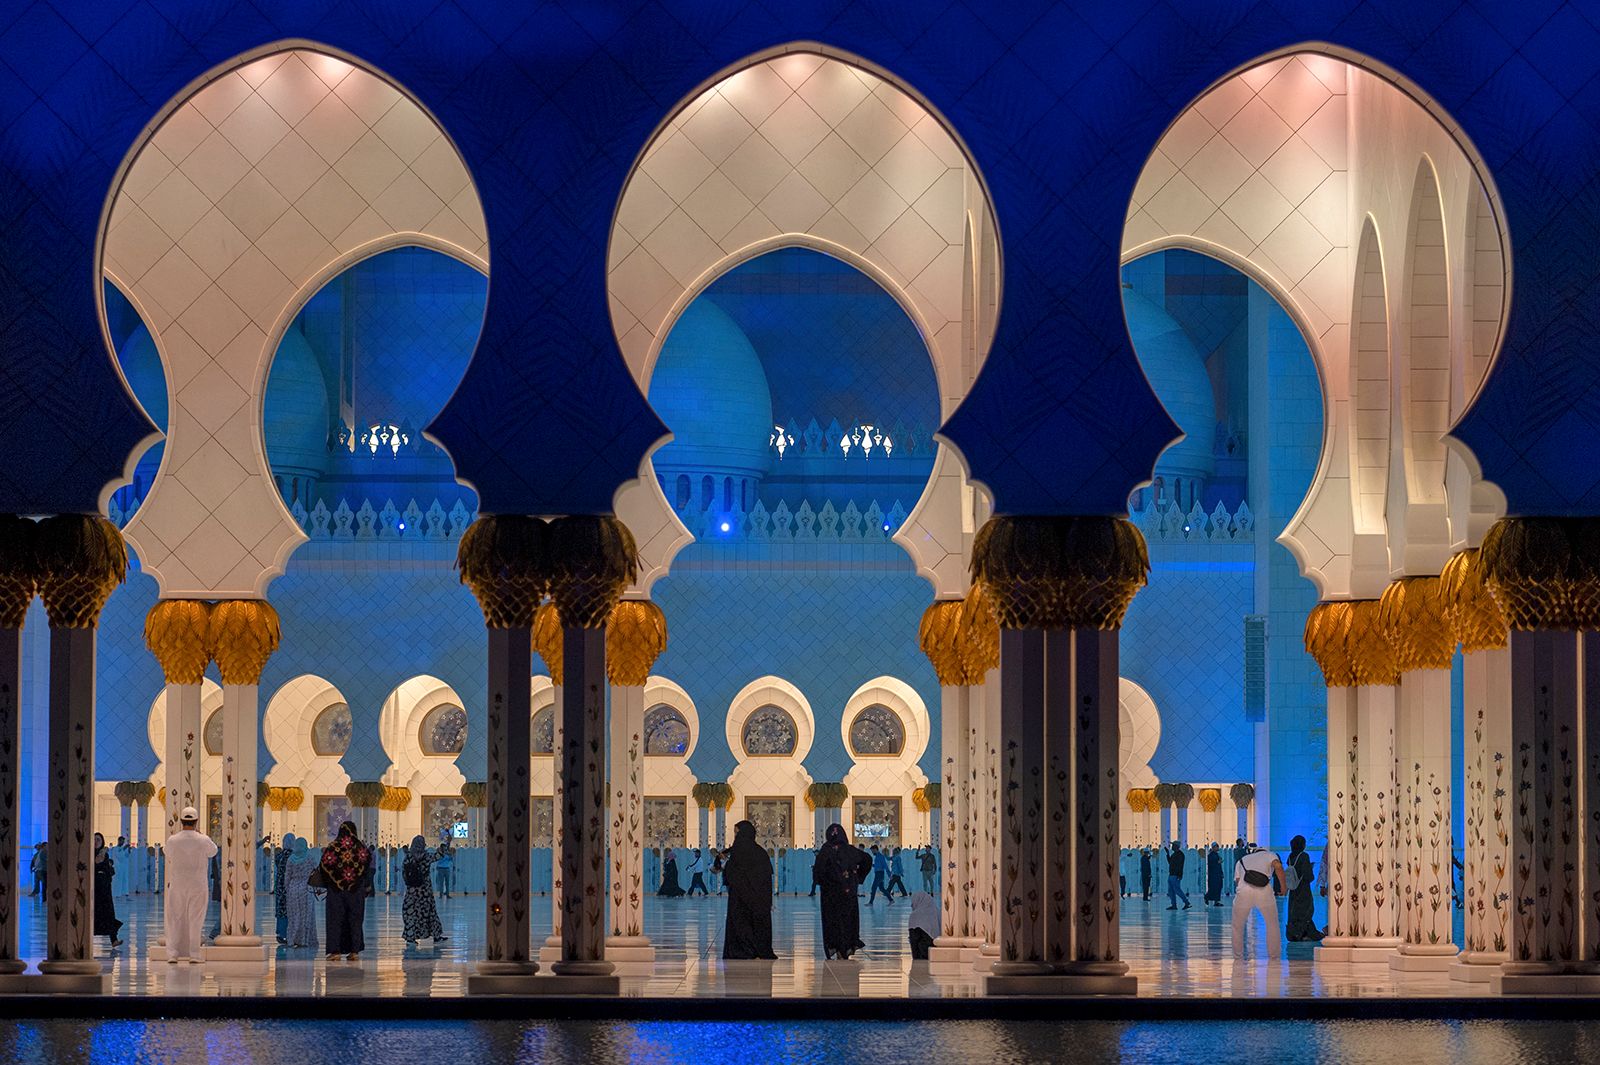
[[[1430,93],[1504,198],[1506,350],[1458,435],[1512,513],[1600,510],[1600,54],[1562,0],[40,0],[0,14],[0,510],[93,510],[150,427],[107,361],[94,248],[141,128],[272,42],[414,93],[482,193],[491,277],[434,432],[493,512],[605,512],[661,422],[611,336],[605,248],[629,166],[698,85],[818,40],[893,72],[965,139],[1005,248],[984,373],[946,425],[1003,512],[1115,513],[1173,425],[1138,373],[1117,257],[1133,184],[1208,85],[1304,42]]]

